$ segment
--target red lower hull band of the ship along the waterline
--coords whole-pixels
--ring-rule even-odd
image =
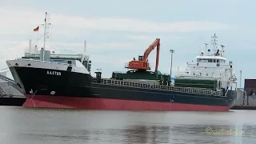
[[[24,107],[68,108],[85,110],[181,110],[228,111],[229,106],[203,106],[183,103],[145,102],[106,98],[70,98],[61,96],[26,95]]]

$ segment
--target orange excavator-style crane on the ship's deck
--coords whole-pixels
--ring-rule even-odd
[[[137,70],[150,70],[150,64],[148,62],[148,56],[154,48],[157,47],[157,56],[155,60],[155,72],[158,71],[159,52],[160,52],[160,38],[156,40],[146,49],[143,56],[138,56],[138,60],[130,61],[126,68]]]

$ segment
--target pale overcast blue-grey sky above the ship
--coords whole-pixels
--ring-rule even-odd
[[[87,42],[93,72],[104,77],[124,71],[125,62],[142,55],[161,39],[158,69],[170,73],[170,49],[174,49],[174,74],[184,70],[210,44],[216,33],[226,46],[226,58],[234,62],[238,75],[255,78],[254,50],[256,1],[254,0],[0,0],[0,70],[6,59],[21,57],[24,50],[43,34],[33,31],[50,14],[50,39],[46,49],[78,54]],[[38,46],[42,46],[41,39]],[[251,51],[250,51],[251,50]],[[154,70],[154,50],[150,63]],[[93,73],[94,74],[94,73]],[[242,80],[243,81],[243,80]]]

